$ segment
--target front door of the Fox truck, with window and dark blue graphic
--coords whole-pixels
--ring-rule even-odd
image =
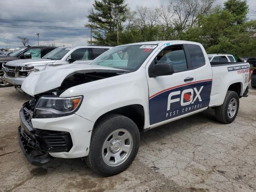
[[[186,45],[167,46],[153,57],[150,65],[170,62],[174,66],[174,74],[147,77],[150,126],[193,112],[195,108],[192,105],[197,99],[195,74]]]

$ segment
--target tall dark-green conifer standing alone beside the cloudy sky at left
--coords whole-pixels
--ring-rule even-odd
[[[88,42],[102,45],[117,45],[117,31],[122,31],[128,12],[125,0],[94,0],[89,9],[88,24],[92,29],[94,41]]]

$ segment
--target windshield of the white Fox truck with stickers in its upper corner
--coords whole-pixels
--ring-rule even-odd
[[[90,64],[136,71],[158,45],[124,45],[114,47]]]

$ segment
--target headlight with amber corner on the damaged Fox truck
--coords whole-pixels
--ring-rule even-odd
[[[74,114],[82,103],[83,96],[41,97],[34,110],[34,118],[55,118]]]

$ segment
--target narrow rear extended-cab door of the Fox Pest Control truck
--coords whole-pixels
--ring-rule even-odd
[[[205,57],[206,53],[204,54],[202,51],[203,47],[197,44],[186,44],[186,46],[188,47],[191,64],[196,76],[197,83],[194,85],[196,90],[200,92],[198,95],[199,99],[194,104],[202,108],[208,107],[212,89],[212,68],[210,62]]]

